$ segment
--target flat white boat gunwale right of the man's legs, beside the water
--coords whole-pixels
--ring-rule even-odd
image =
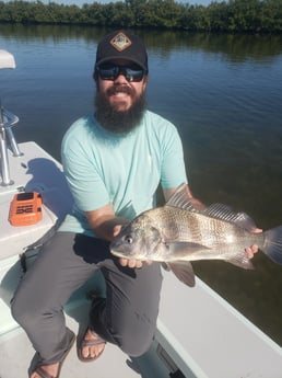
[[[158,331],[197,378],[282,377],[282,348],[199,278],[189,289],[165,273]]]

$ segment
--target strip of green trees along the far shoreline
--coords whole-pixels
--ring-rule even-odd
[[[175,0],[125,0],[81,8],[39,0],[0,1],[0,23],[282,33],[282,0],[212,1],[207,7]]]

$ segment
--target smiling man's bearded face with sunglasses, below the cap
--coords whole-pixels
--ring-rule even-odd
[[[105,79],[105,71],[110,73],[117,67],[117,75]],[[126,70],[126,68],[132,69]],[[96,117],[107,129],[127,133],[140,122],[145,108],[145,87],[148,78],[137,76],[138,67],[125,60],[115,60],[102,66],[101,75],[95,75],[97,85]],[[130,73],[133,72],[132,77]]]

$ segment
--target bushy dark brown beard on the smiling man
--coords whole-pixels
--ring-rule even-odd
[[[127,111],[118,111],[110,105],[107,95],[114,92],[126,92],[133,99],[132,105]],[[128,87],[113,87],[107,94],[99,92],[98,88],[95,96],[96,119],[107,130],[116,134],[127,134],[134,129],[142,119],[146,107],[144,92],[137,98],[134,91]]]

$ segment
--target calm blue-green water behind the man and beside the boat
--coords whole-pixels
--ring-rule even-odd
[[[0,72],[20,141],[60,159],[68,126],[93,110],[92,71],[106,30],[0,25],[17,68]],[[150,56],[149,107],[181,135],[191,188],[207,204],[282,224],[282,36],[142,31]],[[282,345],[282,266],[262,253],[255,271],[196,262],[197,274]],[[187,303],[189,306],[189,303]]]

